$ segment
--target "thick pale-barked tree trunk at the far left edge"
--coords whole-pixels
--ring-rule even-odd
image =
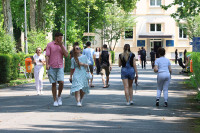
[[[6,30],[6,33],[13,38],[13,23],[12,23],[10,0],[2,0],[2,4],[3,4],[3,15],[4,15],[4,29]]]

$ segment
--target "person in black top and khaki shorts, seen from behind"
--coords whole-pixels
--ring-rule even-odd
[[[109,75],[110,71],[112,69],[111,67],[111,55],[108,52],[107,45],[103,45],[103,50],[99,54],[99,62],[101,64],[101,76],[102,76],[102,82],[103,82],[103,88],[108,88],[109,87]],[[106,82],[105,82],[105,75],[106,75]]]

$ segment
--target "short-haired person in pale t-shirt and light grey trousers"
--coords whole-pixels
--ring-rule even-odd
[[[163,91],[164,95],[164,106],[168,106],[168,87],[171,80],[171,63],[169,59],[165,58],[165,49],[158,49],[159,58],[155,61],[154,72],[158,73],[157,76],[157,97],[156,97],[156,106],[159,106],[159,99]]]

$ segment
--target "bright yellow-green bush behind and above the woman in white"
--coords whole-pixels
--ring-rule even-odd
[[[45,49],[47,46],[48,40],[46,35],[42,32],[32,31],[28,34],[28,53],[34,54],[37,47]]]

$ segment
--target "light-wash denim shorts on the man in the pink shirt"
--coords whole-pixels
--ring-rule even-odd
[[[64,68],[52,68],[48,70],[48,77],[50,83],[56,83],[57,81],[64,81]]]

